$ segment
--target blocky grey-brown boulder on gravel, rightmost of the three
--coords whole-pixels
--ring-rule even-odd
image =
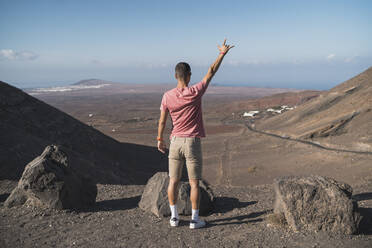
[[[281,177],[274,180],[274,213],[284,215],[293,231],[353,234],[360,214],[352,188],[322,176]]]

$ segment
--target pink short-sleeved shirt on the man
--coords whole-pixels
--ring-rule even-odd
[[[201,101],[207,89],[201,81],[187,88],[174,88],[164,93],[160,110],[168,109],[172,118],[172,136],[205,137]]]

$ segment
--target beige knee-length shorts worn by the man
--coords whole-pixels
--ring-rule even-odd
[[[203,159],[200,138],[173,136],[168,158],[169,177],[181,179],[182,168],[186,162],[189,179],[201,180]]]

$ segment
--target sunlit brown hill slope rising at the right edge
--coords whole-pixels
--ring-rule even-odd
[[[256,128],[324,145],[372,151],[372,67]]]

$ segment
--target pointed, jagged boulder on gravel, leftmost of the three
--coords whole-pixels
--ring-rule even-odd
[[[26,165],[4,206],[79,209],[94,204],[96,196],[97,186],[71,168],[61,147],[50,145]]]

